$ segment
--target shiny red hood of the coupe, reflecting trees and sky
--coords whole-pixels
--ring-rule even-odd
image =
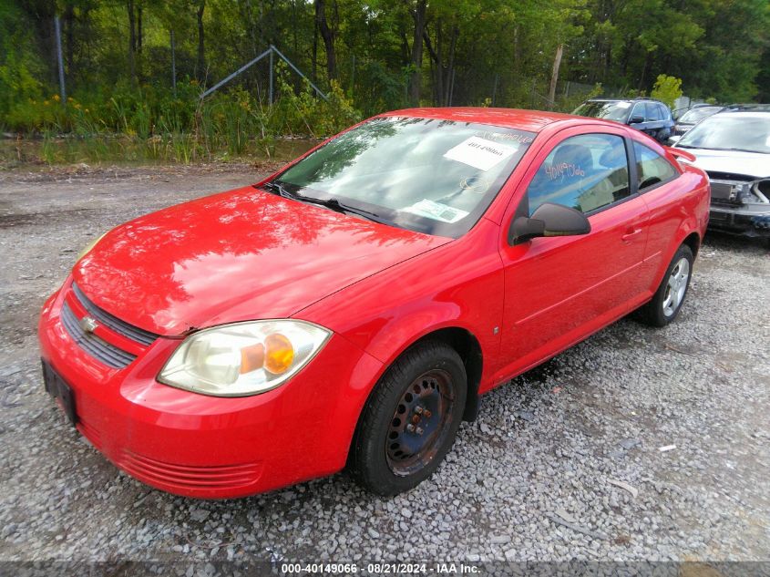
[[[77,264],[108,313],[159,335],[285,318],[450,242],[247,187],[127,222]]]

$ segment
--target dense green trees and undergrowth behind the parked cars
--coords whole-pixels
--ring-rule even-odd
[[[552,104],[570,111],[600,91],[651,93],[669,103],[681,91],[719,102],[770,95],[767,0],[430,0],[423,34],[417,34],[421,58],[414,50],[415,0],[335,0],[327,3],[333,70],[327,69],[332,54],[319,36],[313,2],[133,5],[141,11],[134,13],[129,49],[125,2],[0,0],[0,129],[98,135],[100,141],[118,135],[128,157],[136,152],[194,161],[253,150],[272,155],[283,135],[320,138],[360,118],[406,108],[413,96],[410,78],[417,73],[423,106]],[[55,96],[55,11],[72,97],[67,102]],[[200,101],[203,85],[231,74],[269,44],[329,101],[280,65],[276,98],[268,102],[266,58]],[[558,46],[563,58],[556,101],[550,103]],[[568,81],[574,89],[565,88]],[[55,152],[56,146],[46,149],[50,159],[74,158]],[[95,145],[89,154],[112,152],[112,144]]]

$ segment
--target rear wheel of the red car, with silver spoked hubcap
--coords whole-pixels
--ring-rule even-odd
[[[652,301],[640,309],[644,323],[665,326],[676,318],[687,296],[690,279],[693,278],[693,262],[693,251],[690,247],[686,244],[680,246],[663,274],[663,280],[652,296]]]

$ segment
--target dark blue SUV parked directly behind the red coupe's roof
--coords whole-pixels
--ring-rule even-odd
[[[671,109],[652,98],[590,98],[572,114],[628,124],[659,142],[665,142],[672,135]]]

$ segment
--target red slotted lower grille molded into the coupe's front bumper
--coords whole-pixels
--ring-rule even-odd
[[[139,479],[177,489],[237,489],[252,485],[262,473],[259,463],[200,467],[176,465],[124,451],[118,467]]]

